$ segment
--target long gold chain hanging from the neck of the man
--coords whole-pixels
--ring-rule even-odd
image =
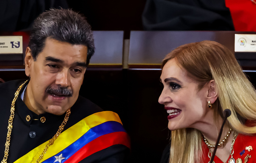
[[[5,143],[5,150],[4,150],[4,158],[1,161],[1,163],[7,163],[7,158],[8,158],[8,152],[9,152],[9,146],[10,146],[10,140],[11,140],[11,132],[12,132],[12,121],[14,119],[14,111],[15,111],[15,102],[19,96],[19,92],[22,89],[23,85],[26,83],[27,81],[25,81],[22,85],[19,86],[18,90],[15,92],[15,96],[14,99],[12,100],[12,104],[11,104],[11,116],[10,119],[8,121],[8,132],[7,132],[7,138],[6,138],[6,143]],[[61,131],[64,129],[65,124],[68,121],[68,117],[70,115],[71,111],[70,108],[66,111],[66,115],[65,118],[63,120],[63,122],[61,123],[57,133],[52,137],[52,139],[49,140],[49,143],[47,143],[45,145],[45,149],[42,152],[42,154],[39,156],[39,158],[36,160],[36,163],[39,163],[40,160],[43,159],[44,155],[46,154],[48,148],[54,143],[54,141],[59,137]]]

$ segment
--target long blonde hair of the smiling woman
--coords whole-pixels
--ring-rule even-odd
[[[218,100],[213,104],[215,113],[222,116],[224,109],[230,109],[227,121],[231,128],[247,135],[256,133],[256,127],[244,124],[245,120],[256,120],[256,92],[229,49],[208,40],[185,44],[167,54],[162,67],[174,58],[199,83],[199,90],[214,79],[218,92]],[[203,157],[200,131],[172,131],[169,163],[200,163]]]

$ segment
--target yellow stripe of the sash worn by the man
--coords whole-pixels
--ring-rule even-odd
[[[72,116],[72,112],[70,116]],[[54,156],[55,154],[67,148],[70,144],[74,143],[81,136],[83,136],[84,133],[89,131],[89,129],[99,124],[105,123],[107,121],[117,121],[122,124],[117,113],[110,111],[94,113],[93,115],[90,115],[82,119],[72,127],[66,129],[63,133],[61,133],[60,136],[55,140],[54,144],[49,147],[48,151],[44,155],[44,158],[40,162],[43,162],[44,160]],[[42,151],[45,148],[45,145],[48,142],[49,140],[34,148],[26,155],[16,160],[14,163],[35,163],[35,161],[39,158],[39,155],[42,153]]]

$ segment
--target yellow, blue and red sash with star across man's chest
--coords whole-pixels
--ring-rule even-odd
[[[48,142],[34,148],[14,163],[34,163]],[[115,144],[130,148],[129,136],[119,116],[110,111],[94,113],[62,132],[40,163],[77,163]]]

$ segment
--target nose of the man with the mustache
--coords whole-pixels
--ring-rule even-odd
[[[70,86],[69,70],[62,70],[61,72],[59,72],[56,76],[55,84],[64,88]]]

